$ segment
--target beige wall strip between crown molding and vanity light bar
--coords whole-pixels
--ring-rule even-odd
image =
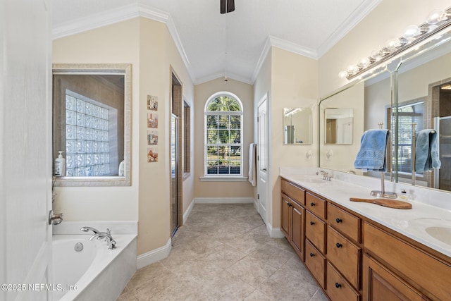
[[[450,1],[383,0],[340,42],[319,59],[319,96],[338,90],[348,80],[338,77],[347,66],[381,49],[388,39],[400,37],[408,25],[420,25],[434,8],[447,8]]]

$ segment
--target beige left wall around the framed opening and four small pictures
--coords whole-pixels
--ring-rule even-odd
[[[113,49],[113,50],[112,50]],[[54,63],[132,63],[132,185],[58,188],[56,208],[69,221],[137,221],[137,253],[170,238],[169,145],[171,66],[192,104],[194,86],[167,27],[146,18],[89,30],[54,41]],[[147,163],[147,95],[159,99],[159,161]],[[192,181],[192,176],[185,183]],[[185,184],[184,183],[184,184]],[[186,185],[184,209],[194,199]]]

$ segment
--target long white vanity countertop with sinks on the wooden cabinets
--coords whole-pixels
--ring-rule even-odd
[[[326,181],[321,180],[321,176],[315,175],[318,170],[319,168],[281,167],[279,175],[357,214],[362,214],[362,216],[412,238],[412,240],[431,247],[431,249],[445,254],[447,257],[451,257],[451,245],[447,245],[426,233],[427,226],[440,226],[448,223],[448,227],[451,228],[450,192],[392,183],[385,180],[386,191],[397,192],[400,195],[401,190],[405,189],[407,194],[412,196],[407,200],[407,202],[412,203],[412,209],[391,209],[376,204],[350,201],[350,197],[373,198],[370,195],[371,190],[381,190],[380,178],[321,169],[333,176],[332,180]],[[321,181],[312,181],[312,179]]]

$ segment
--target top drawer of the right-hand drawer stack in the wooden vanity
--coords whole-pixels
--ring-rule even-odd
[[[327,218],[329,224],[332,225],[333,228],[349,236],[355,242],[361,242],[361,221],[357,216],[354,216],[333,204],[328,204]]]

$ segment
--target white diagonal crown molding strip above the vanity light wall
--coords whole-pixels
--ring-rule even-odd
[[[373,10],[382,0],[365,0],[341,25],[323,42],[317,50],[318,59],[329,51],[348,32],[352,30],[370,11]]]

